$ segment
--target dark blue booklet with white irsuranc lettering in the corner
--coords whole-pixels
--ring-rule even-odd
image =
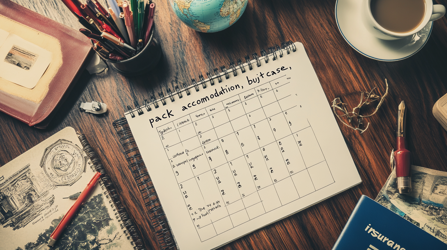
[[[351,249],[447,250],[447,244],[367,196],[362,196],[332,248]]]

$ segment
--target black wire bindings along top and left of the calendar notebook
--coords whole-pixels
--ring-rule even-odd
[[[275,45],[267,48],[266,50],[261,50],[261,57],[255,52],[253,53],[253,60],[250,60],[249,55],[247,55],[245,59],[245,63],[242,60],[238,59],[236,63],[231,62],[229,64],[229,68],[222,66],[220,67],[221,72],[219,72],[218,68],[214,68],[213,72],[207,72],[207,79],[203,77],[202,74],[198,76],[198,82],[195,79],[191,79],[191,85],[188,86],[186,83],[182,83],[182,89],[177,85],[174,87],[174,92],[170,89],[167,90],[167,95],[164,95],[163,92],[159,92],[159,99],[156,99],[156,96],[151,96],[149,99],[143,100],[143,106],[140,106],[137,101],[134,102],[135,108],[132,108],[130,105],[127,106],[128,112],[126,114],[130,114],[132,118],[135,116],[143,115],[144,112],[149,112],[153,108],[159,108],[161,105],[164,106],[167,104],[167,99],[171,100],[171,102],[175,101],[175,95],[178,98],[183,98],[184,95],[182,92],[186,93],[186,96],[191,94],[193,88],[196,92],[200,91],[199,86],[202,85],[202,88],[207,87],[207,83],[211,86],[215,85],[215,83],[222,83],[225,79],[229,79],[229,74],[233,74],[233,76],[237,76],[237,70],[240,70],[243,73],[247,71],[253,70],[254,67],[261,67],[262,60],[265,63],[268,63],[270,60],[277,60],[278,58],[282,58],[284,53],[290,54],[291,52],[296,51],[296,46],[291,41],[282,42],[281,46]],[[256,64],[256,65],[255,65]],[[152,107],[151,107],[152,106]],[[124,147],[124,154],[126,155],[127,162],[129,162],[129,170],[132,173],[133,178],[139,188],[141,196],[144,200],[144,205],[146,207],[146,212],[152,222],[153,230],[156,235],[157,240],[160,243],[162,249],[176,249],[176,243],[174,239],[174,235],[171,232],[169,227],[168,220],[164,214],[162,205],[160,200],[158,199],[156,190],[152,184],[152,179],[149,176],[146,165],[143,162],[143,158],[139,153],[138,146],[135,143],[134,137],[131,133],[131,129],[127,123],[126,117],[122,117],[113,122],[115,129],[117,130],[117,134],[120,137],[120,142]]]

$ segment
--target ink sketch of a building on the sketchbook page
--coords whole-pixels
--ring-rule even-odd
[[[0,224],[19,229],[54,203],[48,196],[51,186],[42,183],[31,172],[30,165],[0,181]]]

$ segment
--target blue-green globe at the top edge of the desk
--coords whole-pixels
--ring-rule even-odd
[[[178,18],[191,29],[217,32],[227,29],[244,13],[248,0],[170,0]]]

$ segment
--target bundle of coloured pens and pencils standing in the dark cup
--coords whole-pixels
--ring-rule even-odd
[[[151,37],[155,4],[151,0],[107,0],[107,11],[96,0],[62,0],[84,25],[81,33],[94,42],[94,50],[111,60],[122,61],[133,57]]]

